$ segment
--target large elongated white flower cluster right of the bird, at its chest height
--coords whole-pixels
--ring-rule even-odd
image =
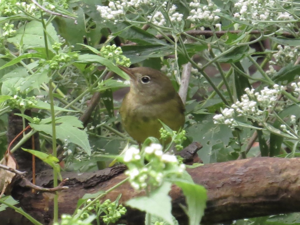
[[[263,114],[269,109],[273,108],[277,103],[277,96],[283,86],[275,84],[273,89],[264,87],[260,92],[254,92],[254,89],[246,88],[246,94],[241,97],[241,101],[236,101],[232,104],[231,108],[225,108],[222,110],[222,114],[214,116],[214,124],[226,124],[231,128],[238,125],[238,122],[234,119],[234,116],[246,116],[253,120],[264,119]]]

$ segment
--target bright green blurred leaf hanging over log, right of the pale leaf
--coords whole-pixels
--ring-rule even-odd
[[[207,195],[205,188],[184,180],[176,181],[175,184],[182,189],[185,196],[189,225],[199,225],[206,207]]]

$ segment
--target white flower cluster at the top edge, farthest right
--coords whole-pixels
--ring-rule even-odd
[[[233,16],[240,20],[249,20],[253,25],[261,21],[294,20],[294,17],[283,9],[290,4],[288,1],[239,0],[234,4],[237,12]]]

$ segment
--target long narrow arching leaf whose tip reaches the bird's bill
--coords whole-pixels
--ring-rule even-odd
[[[98,62],[104,66],[106,66],[109,70],[117,73],[119,76],[123,77],[126,80],[129,80],[129,76],[121,70],[119,67],[117,67],[115,64],[113,64],[110,60],[107,58],[103,58],[99,55],[91,55],[91,54],[84,54],[84,55],[79,55],[78,61],[77,62]]]

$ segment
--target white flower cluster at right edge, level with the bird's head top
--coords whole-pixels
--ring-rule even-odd
[[[277,46],[278,52],[273,54],[274,60],[269,61],[269,70],[266,71],[268,76],[273,76],[276,73],[273,65],[284,67],[287,64],[295,64],[300,57],[300,46],[290,47],[288,45]]]

